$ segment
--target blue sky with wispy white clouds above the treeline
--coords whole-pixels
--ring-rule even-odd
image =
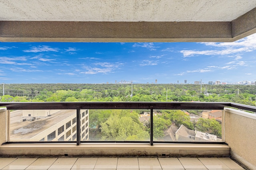
[[[0,43],[0,83],[256,81],[256,34],[232,43]]]

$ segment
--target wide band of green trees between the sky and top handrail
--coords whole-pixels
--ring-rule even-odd
[[[2,102],[200,101],[256,106],[254,85],[203,84],[201,89],[195,84],[4,84],[4,94]]]

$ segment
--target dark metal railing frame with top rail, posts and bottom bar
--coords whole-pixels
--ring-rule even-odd
[[[15,109],[76,109],[77,118],[77,141],[76,145],[85,143],[80,141],[80,109],[150,109],[150,145],[153,145],[153,109],[218,109],[224,107],[235,107],[248,111],[256,112],[255,106],[236,104],[231,102],[0,102],[0,107],[6,107],[8,110]],[[98,141],[97,141],[98,142]],[[148,143],[147,141],[105,141],[120,143]],[[60,142],[7,142],[7,143],[63,143]],[[68,143],[65,141],[65,143]],[[69,143],[74,143],[69,141]],[[159,143],[159,142],[156,142]],[[169,142],[172,143],[172,142]],[[188,142],[193,143],[193,142]],[[211,143],[211,142],[209,142]],[[216,143],[216,142],[214,142]],[[225,144],[224,142],[221,142]],[[219,144],[219,142],[218,142]]]

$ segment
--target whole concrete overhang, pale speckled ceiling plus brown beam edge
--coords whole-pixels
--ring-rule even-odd
[[[235,41],[256,0],[0,0],[0,41]]]

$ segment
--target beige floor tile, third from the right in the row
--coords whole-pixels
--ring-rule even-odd
[[[207,169],[198,158],[178,158],[185,169]]]

